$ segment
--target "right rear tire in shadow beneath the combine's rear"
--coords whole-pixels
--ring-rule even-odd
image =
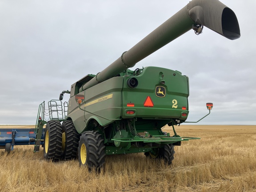
[[[162,148],[155,148],[152,152],[145,152],[145,156],[151,158],[163,159],[168,165],[172,164],[174,159],[174,145],[165,144]]]

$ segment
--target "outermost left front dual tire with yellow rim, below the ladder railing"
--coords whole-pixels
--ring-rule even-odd
[[[58,161],[61,158],[62,128],[57,120],[50,120],[44,131],[44,159]]]

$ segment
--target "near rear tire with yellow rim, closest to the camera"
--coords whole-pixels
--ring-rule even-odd
[[[101,134],[97,131],[82,133],[79,141],[78,160],[80,166],[88,166],[89,170],[100,168],[105,163],[105,145]]]

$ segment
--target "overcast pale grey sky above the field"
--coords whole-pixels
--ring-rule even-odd
[[[0,0],[0,124],[35,124],[40,103],[102,71],[188,2]],[[256,124],[256,1],[221,2],[236,13],[240,39],[191,30],[132,69],[188,76],[188,121],[206,115],[212,102],[198,124]]]

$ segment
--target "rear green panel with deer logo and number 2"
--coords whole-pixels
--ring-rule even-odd
[[[127,86],[129,78],[131,77],[124,76],[124,89],[122,92],[123,118],[177,118],[180,120],[187,118],[187,116],[181,116],[182,112],[188,113],[187,76],[166,68],[146,67],[139,76],[134,77],[138,80],[136,88]],[[160,84],[163,80],[164,84]],[[152,100],[152,107],[144,106],[148,96]],[[129,107],[129,103],[134,104],[134,107]],[[182,109],[184,107],[186,109]],[[129,110],[135,110],[135,114],[126,114]]]

